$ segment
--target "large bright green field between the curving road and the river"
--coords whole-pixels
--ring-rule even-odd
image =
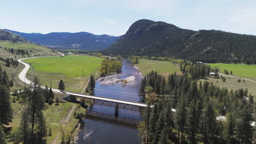
[[[103,58],[93,56],[65,56],[26,59],[32,67],[27,78],[32,80],[38,76],[42,85],[58,88],[59,81],[65,82],[65,91],[80,93],[89,79],[89,75],[97,72]]]

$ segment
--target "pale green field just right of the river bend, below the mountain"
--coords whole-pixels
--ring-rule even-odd
[[[143,75],[148,74],[150,71],[158,71],[159,74],[168,76],[176,72],[181,74],[179,67],[167,61],[150,61],[149,59],[139,59],[139,64],[136,65]]]

